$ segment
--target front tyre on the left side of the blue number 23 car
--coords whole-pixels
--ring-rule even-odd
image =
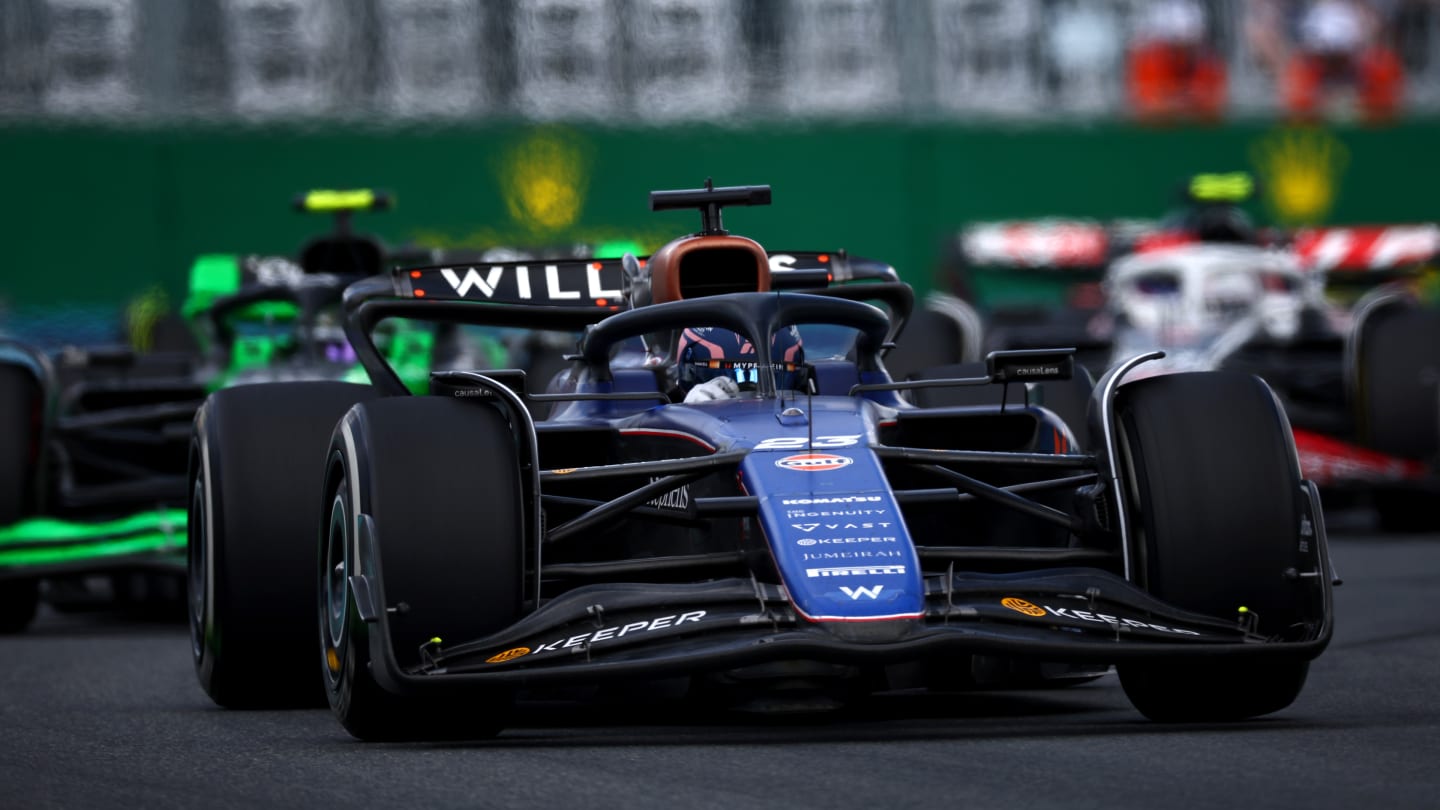
[[[336,430],[325,481],[318,613],[336,716],[367,741],[494,736],[511,708],[508,689],[400,696],[376,672],[384,649],[409,669],[433,638],[471,641],[520,617],[524,493],[510,424],[478,402],[366,402]],[[372,543],[361,542],[361,520]],[[356,574],[370,581],[377,608],[405,608],[384,626],[361,621]]]

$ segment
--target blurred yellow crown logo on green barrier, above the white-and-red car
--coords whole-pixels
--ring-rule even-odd
[[[1266,206],[1283,225],[1323,222],[1335,206],[1349,150],[1315,127],[1276,130],[1250,146]]]

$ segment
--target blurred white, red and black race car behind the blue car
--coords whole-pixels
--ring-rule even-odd
[[[1440,307],[1423,281],[1440,226],[1260,231],[1243,180],[1197,177],[1181,215],[1155,223],[968,228],[984,347],[1071,346],[1094,373],[1161,350],[1136,373],[1259,375],[1328,497],[1368,500],[1384,528],[1434,528]]]

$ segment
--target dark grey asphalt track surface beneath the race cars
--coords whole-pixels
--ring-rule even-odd
[[[1440,807],[1440,536],[1332,551],[1306,690],[1225,725],[1151,724],[1106,676],[819,719],[547,703],[490,741],[374,745],[323,709],[217,709],[179,621],[48,611],[0,638],[0,809]]]

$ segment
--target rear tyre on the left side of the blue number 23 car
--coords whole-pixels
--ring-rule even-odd
[[[213,393],[190,450],[190,641],[200,686],[226,708],[324,702],[315,677],[315,523],[325,447],[372,388],[258,383]]]

